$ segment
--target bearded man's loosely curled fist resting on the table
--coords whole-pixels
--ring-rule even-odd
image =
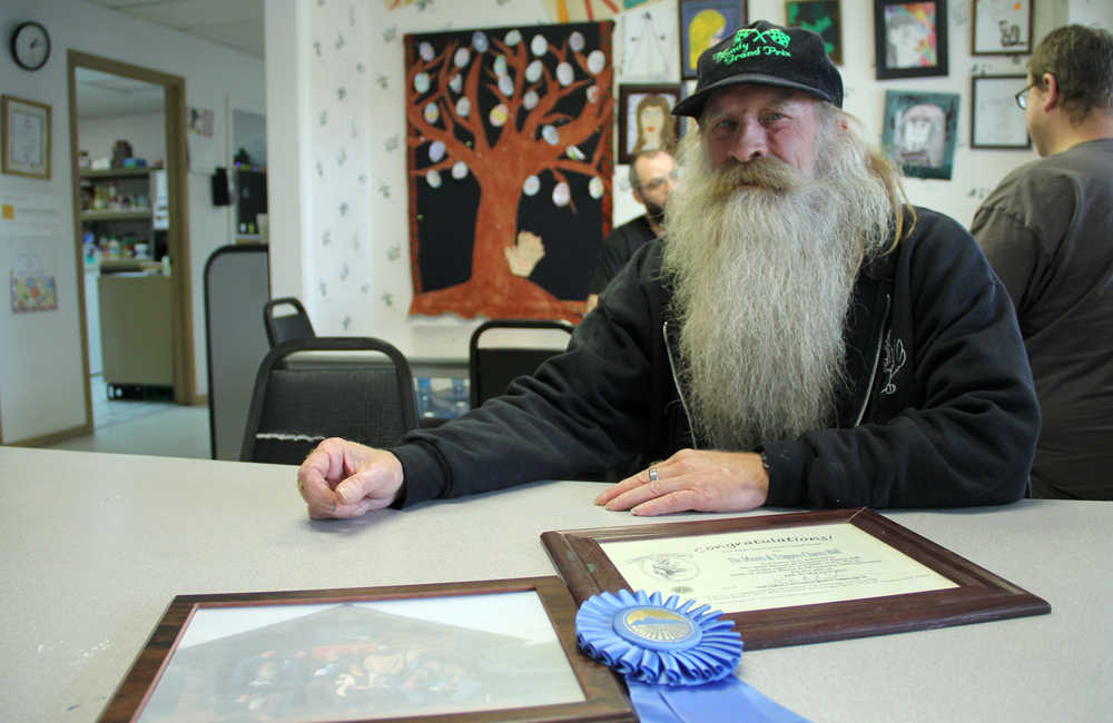
[[[297,471],[297,489],[314,519],[358,517],[388,506],[402,488],[402,463],[390,452],[325,439]]]

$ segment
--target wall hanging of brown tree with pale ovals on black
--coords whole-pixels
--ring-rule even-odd
[[[579,320],[610,232],[612,31],[406,36],[411,315]]]

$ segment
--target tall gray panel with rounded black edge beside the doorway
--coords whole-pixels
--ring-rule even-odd
[[[252,384],[270,345],[259,307],[270,298],[266,245],[221,246],[205,263],[205,349],[208,360],[209,448],[238,459]]]

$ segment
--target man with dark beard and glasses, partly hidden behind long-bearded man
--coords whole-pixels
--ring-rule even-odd
[[[664,234],[664,202],[677,182],[677,161],[663,150],[642,151],[630,161],[630,189],[646,214],[619,226],[599,247],[595,271],[588,287],[590,311],[599,304],[599,294],[619,273],[633,252],[647,241]]]

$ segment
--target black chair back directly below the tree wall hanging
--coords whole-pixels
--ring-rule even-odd
[[[541,329],[556,329],[569,335],[572,325],[567,321],[538,321],[533,319],[492,319],[484,321],[474,331],[467,345],[467,372],[471,383],[471,405],[477,407],[491,397],[506,392],[510,383],[520,376],[530,375],[551,356],[563,348],[523,346],[480,346],[480,337],[492,329],[519,329],[523,333]],[[565,344],[567,346],[567,344]]]

